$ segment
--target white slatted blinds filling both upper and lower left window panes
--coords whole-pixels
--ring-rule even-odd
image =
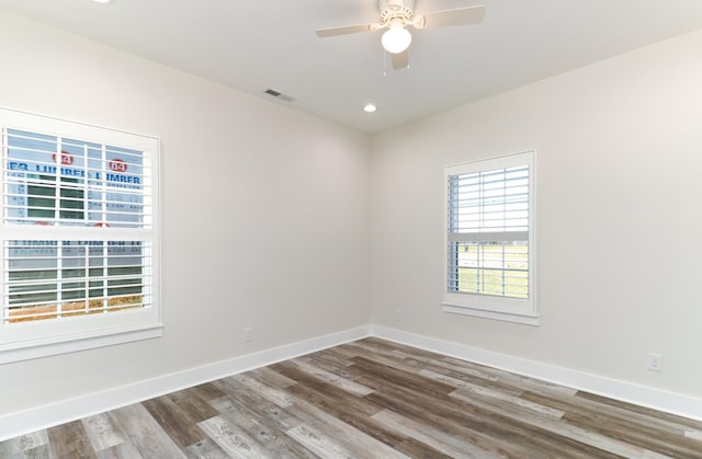
[[[149,152],[2,128],[2,324],[152,306]]]

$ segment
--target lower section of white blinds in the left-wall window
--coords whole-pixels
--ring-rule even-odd
[[[5,240],[3,322],[151,306],[148,241]]]

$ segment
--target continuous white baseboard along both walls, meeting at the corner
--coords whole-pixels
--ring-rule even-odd
[[[0,416],[0,441],[327,347],[376,336],[702,421],[702,399],[377,325],[365,325]]]

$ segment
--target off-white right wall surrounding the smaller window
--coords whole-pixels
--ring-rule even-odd
[[[374,323],[701,397],[700,49],[702,31],[374,136]],[[532,148],[541,326],[442,312],[444,165]]]

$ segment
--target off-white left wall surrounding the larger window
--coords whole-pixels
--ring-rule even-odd
[[[4,12],[0,62],[2,106],[160,137],[166,323],[0,365],[0,417],[369,322],[366,135]]]

